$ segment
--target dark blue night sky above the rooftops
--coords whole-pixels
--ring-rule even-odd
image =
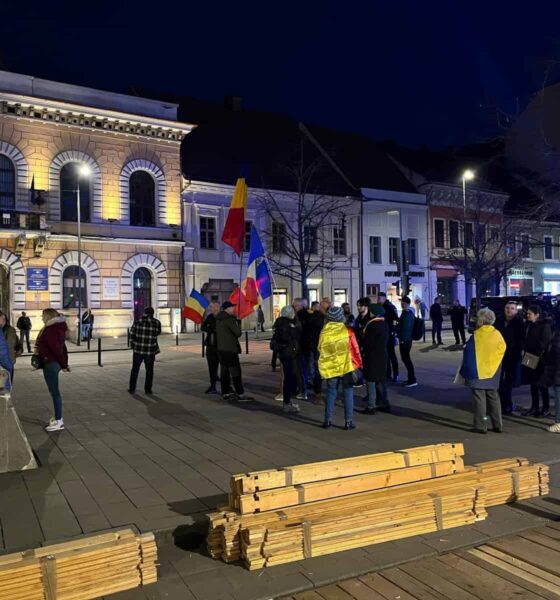
[[[560,60],[560,3],[502,0],[1,2],[0,67],[135,86],[408,145],[496,131]],[[558,69],[552,80],[559,79]]]

